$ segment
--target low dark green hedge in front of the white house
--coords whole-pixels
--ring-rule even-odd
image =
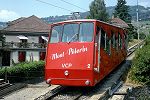
[[[22,62],[15,66],[7,67],[7,76],[13,82],[44,76],[44,61]],[[5,68],[2,68],[0,69],[0,78],[4,77]]]

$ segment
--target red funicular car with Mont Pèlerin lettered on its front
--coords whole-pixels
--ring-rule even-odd
[[[45,79],[48,84],[94,86],[126,57],[122,28],[94,19],[51,25]]]

